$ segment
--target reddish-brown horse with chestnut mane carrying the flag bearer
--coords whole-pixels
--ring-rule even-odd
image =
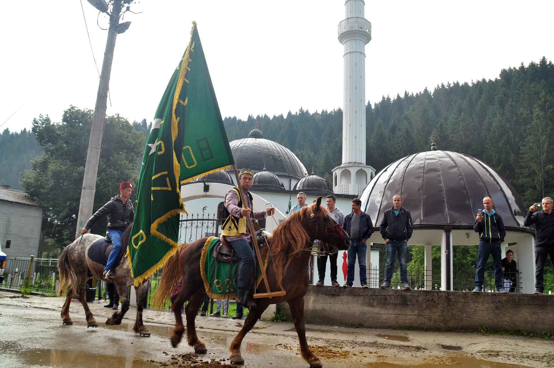
[[[240,355],[240,343],[244,336],[253,328],[263,311],[269,304],[286,301],[289,304],[293,316],[296,333],[300,340],[302,357],[309,362],[310,367],[321,367],[319,357],[311,352],[306,343],[306,329],[304,326],[304,295],[309,285],[308,264],[310,251],[314,239],[320,239],[332,246],[346,250],[350,247],[348,234],[329,215],[329,212],[321,206],[321,198],[311,206],[304,207],[293,213],[288,219],[277,227],[272,236],[268,238],[270,262],[267,270],[269,287],[271,291],[285,290],[283,297],[256,299],[257,308],[250,310],[244,321],[243,328],[233,339],[229,346],[230,360],[234,364],[244,364]],[[198,313],[202,301],[206,297],[206,290],[200,273],[200,257],[202,248],[207,238],[198,239],[191,244],[183,244],[181,251],[171,257],[163,267],[162,277],[153,297],[153,304],[163,305],[170,297],[173,285],[183,280],[183,288],[171,297],[173,313],[175,314],[175,328],[171,336],[173,347],[181,342],[184,333],[181,308],[186,300],[187,315],[187,341],[194,347],[194,351],[205,353],[206,345],[198,339],[194,319]],[[257,289],[258,293],[267,292],[264,283]]]

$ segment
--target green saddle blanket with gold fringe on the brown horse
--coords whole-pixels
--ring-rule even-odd
[[[200,257],[200,272],[206,294],[212,299],[234,299],[237,296],[237,269],[238,262],[223,262],[213,258],[213,249],[216,247],[219,238],[209,237],[202,248]],[[267,270],[269,264],[269,252],[262,252],[264,268]],[[229,268],[230,272],[229,272]],[[261,272],[256,273],[256,288],[261,282]]]

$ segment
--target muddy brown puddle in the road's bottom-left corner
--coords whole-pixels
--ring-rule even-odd
[[[0,349],[2,351],[4,349]],[[159,368],[160,365],[136,359],[132,356],[121,357],[99,355],[78,350],[35,349],[35,350],[4,350],[2,360],[9,366],[58,366],[64,368],[80,368],[84,366],[104,367],[106,365],[126,368]]]

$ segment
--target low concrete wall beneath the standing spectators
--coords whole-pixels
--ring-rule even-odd
[[[288,304],[278,308],[290,317]],[[554,295],[310,287],[305,321],[366,328],[543,332],[554,330]]]

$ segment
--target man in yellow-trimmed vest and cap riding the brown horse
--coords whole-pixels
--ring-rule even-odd
[[[249,291],[250,277],[254,269],[254,252],[250,246],[252,236],[247,223],[247,218],[253,216],[255,219],[265,218],[266,214],[273,214],[274,207],[266,209],[266,211],[253,211],[252,194],[249,190],[252,187],[254,173],[252,170],[240,170],[239,181],[240,186],[234,187],[225,195],[223,206],[223,225],[222,238],[228,241],[234,252],[242,260],[241,267],[237,275],[237,295],[235,300],[248,308],[255,308],[256,303],[252,299],[252,294]],[[242,187],[244,193],[240,195],[239,191]]]

